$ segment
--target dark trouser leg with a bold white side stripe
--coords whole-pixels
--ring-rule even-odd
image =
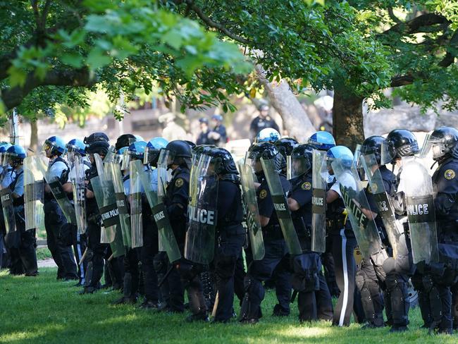
[[[349,326],[350,316],[353,311],[354,278],[356,263],[354,262],[354,247],[356,240],[347,238],[345,230],[333,238],[333,259],[335,265],[335,278],[340,289],[340,295],[335,306],[333,324],[336,326]]]

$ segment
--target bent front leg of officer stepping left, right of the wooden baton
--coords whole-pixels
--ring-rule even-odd
[[[255,324],[262,317],[261,302],[264,300],[265,281],[272,275],[273,269],[283,257],[278,257],[276,246],[271,241],[265,241],[266,253],[261,260],[253,260],[249,265],[245,276],[245,296],[240,309],[240,321],[247,324]]]

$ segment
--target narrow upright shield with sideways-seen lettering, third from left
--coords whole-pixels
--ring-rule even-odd
[[[86,231],[86,183],[85,163],[81,156],[75,155],[73,171],[70,173],[73,187],[73,204],[75,205],[76,226],[78,233]]]

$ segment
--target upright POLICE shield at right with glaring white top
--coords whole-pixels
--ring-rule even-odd
[[[428,170],[414,156],[402,158],[399,191],[404,191],[414,263],[438,262],[433,182]]]

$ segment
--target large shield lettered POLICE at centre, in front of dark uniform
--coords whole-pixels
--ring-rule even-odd
[[[190,194],[185,258],[209,264],[213,260],[218,220],[218,176],[213,171],[210,156],[202,154],[194,175],[197,176],[197,194]]]

